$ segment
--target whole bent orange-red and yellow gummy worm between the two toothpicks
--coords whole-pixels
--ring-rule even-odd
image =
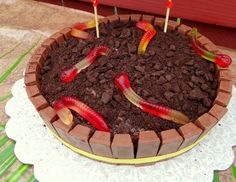
[[[137,22],[136,27],[145,31],[145,34],[143,35],[138,47],[138,54],[144,54],[148,43],[155,36],[156,30],[149,22],[146,21]]]

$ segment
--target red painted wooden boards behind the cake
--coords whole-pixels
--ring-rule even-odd
[[[100,0],[99,3],[158,15],[165,15],[166,11],[165,0]],[[173,3],[172,17],[236,28],[236,0],[173,0]]]

